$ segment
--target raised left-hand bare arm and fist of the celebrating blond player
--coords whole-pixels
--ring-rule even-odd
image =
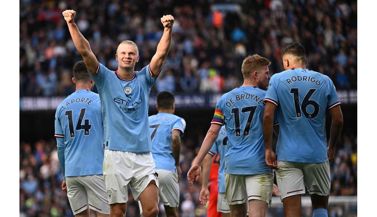
[[[75,44],[78,52],[83,56],[86,68],[93,74],[97,73],[98,61],[92,50],[90,49],[89,42],[78,30],[77,25],[75,24],[76,11],[74,10],[65,10],[63,11],[64,20],[67,21],[69,33],[72,37],[72,41]]]

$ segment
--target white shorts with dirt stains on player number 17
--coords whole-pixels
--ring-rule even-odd
[[[274,174],[231,175],[225,173],[225,195],[229,205],[262,200],[271,206]]]

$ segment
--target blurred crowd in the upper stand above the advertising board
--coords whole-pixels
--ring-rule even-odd
[[[278,73],[284,70],[282,46],[295,41],[307,51],[308,68],[328,75],[338,90],[357,88],[356,1],[21,0],[20,97],[74,91],[72,67],[82,58],[61,14],[65,9],[77,11],[78,28],[111,70],[124,40],[139,47],[135,70],[148,64],[162,35],[160,18],[172,14],[172,46],[153,92],[225,93],[242,84],[245,56],[265,56],[271,74]]]

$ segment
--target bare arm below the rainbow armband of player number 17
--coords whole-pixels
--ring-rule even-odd
[[[203,140],[202,147],[199,150],[198,157],[196,158],[195,162],[193,163],[192,167],[190,168],[189,172],[187,173],[187,179],[189,180],[190,185],[193,184],[194,180],[198,180],[198,176],[201,173],[201,165],[205,155],[209,152],[213,143],[215,143],[216,138],[219,135],[221,129],[221,125],[219,124],[211,124],[210,129],[205,135]]]

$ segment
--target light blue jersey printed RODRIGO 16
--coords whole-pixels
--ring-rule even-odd
[[[280,126],[277,160],[304,163],[328,160],[326,111],[340,105],[328,76],[302,68],[274,74],[265,101],[277,106]]]

